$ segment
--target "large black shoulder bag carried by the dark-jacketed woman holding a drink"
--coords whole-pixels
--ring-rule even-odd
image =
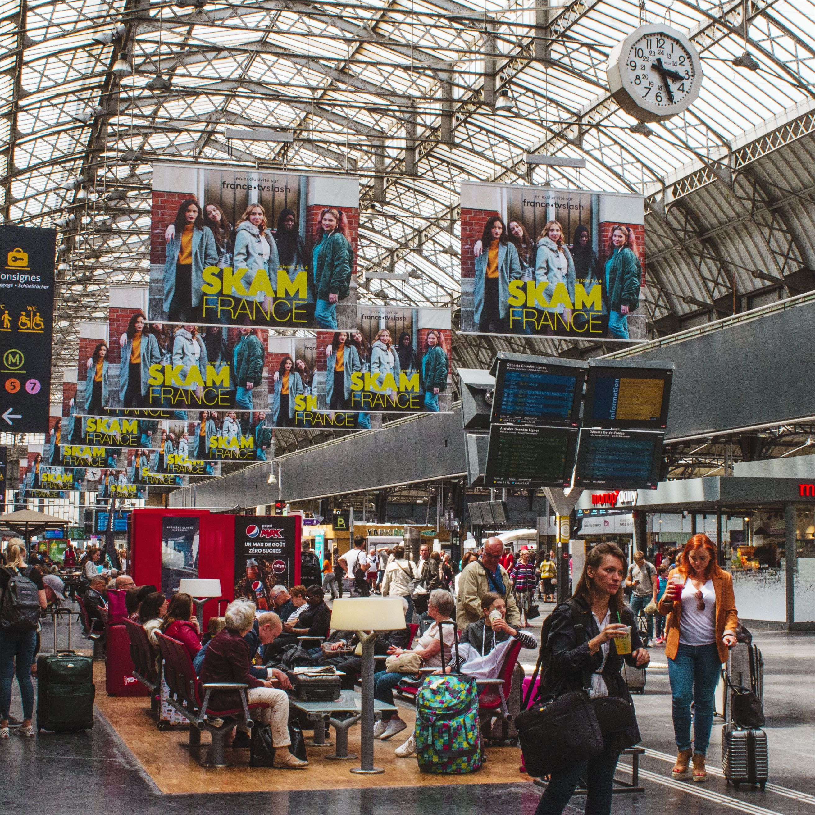
[[[533,778],[580,764],[603,749],[597,714],[583,690],[521,711],[515,727],[526,771]]]

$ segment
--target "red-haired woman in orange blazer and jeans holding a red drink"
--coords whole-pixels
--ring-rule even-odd
[[[694,781],[707,780],[705,753],[713,725],[713,694],[721,664],[736,645],[738,612],[733,578],[716,563],[716,547],[707,535],[694,535],[668,575],[659,601],[667,615],[668,679],[673,699],[673,731],[679,755],[674,778],[685,778],[693,754]],[[694,703],[694,739],[690,739],[690,703]]]

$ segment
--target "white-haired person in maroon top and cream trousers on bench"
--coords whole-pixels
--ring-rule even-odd
[[[207,646],[204,662],[200,668],[200,681],[241,682],[248,687],[249,704],[262,703],[259,718],[264,725],[271,727],[272,743],[275,746],[274,766],[280,769],[304,769],[307,761],[301,761],[289,751],[292,743],[289,738],[289,696],[285,688],[291,687],[283,672],[272,671],[272,676],[280,682],[278,689],[267,679],[257,679],[249,671],[249,645],[244,639],[252,628],[255,616],[254,603],[236,600],[227,606],[225,615],[227,627],[218,632]],[[275,616],[276,615],[272,615]],[[280,618],[276,618],[275,629],[282,630]],[[212,695],[214,709],[228,710],[240,707],[240,695],[236,691],[218,691]],[[240,728],[240,725],[238,725]]]

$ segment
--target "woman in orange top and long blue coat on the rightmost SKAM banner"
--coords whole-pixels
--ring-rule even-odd
[[[475,258],[473,319],[478,331],[509,333],[509,281],[521,279],[518,249],[509,240],[500,216],[493,215],[484,224],[483,251]]]

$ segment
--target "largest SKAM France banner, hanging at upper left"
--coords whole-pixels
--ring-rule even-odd
[[[359,179],[155,164],[151,320],[350,328]]]

